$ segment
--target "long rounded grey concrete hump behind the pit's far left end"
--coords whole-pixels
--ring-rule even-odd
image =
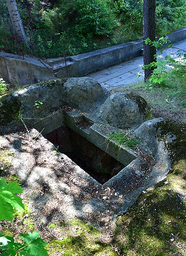
[[[67,105],[88,111],[93,105],[98,105],[108,97],[107,90],[87,77],[50,80],[30,85],[15,91],[11,96],[0,102],[0,125],[17,119],[20,111],[24,112],[25,123],[43,118],[53,109]],[[35,101],[42,102],[36,108]],[[11,128],[11,125],[9,125]],[[0,132],[2,128],[0,127]]]

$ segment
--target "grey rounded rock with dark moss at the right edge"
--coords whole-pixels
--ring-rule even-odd
[[[163,157],[168,151],[170,160],[180,160],[186,157],[186,124],[163,118],[144,122],[135,131],[133,137],[143,141],[143,144],[153,153]]]

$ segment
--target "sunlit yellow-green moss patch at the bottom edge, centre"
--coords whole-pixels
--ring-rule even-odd
[[[95,227],[81,221],[70,221],[67,235],[62,240],[52,240],[47,245],[49,255],[65,256],[116,256],[118,255],[111,244],[103,243],[100,239],[101,232]]]

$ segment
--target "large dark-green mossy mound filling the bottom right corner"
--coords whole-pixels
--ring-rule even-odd
[[[148,189],[118,218],[114,240],[121,255],[185,255],[185,172],[186,161],[181,160],[166,180]]]

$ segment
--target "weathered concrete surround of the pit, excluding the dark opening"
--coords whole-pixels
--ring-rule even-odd
[[[70,81],[72,82],[71,87]],[[92,90],[94,90],[92,99],[91,95],[87,92],[86,84],[84,84],[88,84],[89,82]],[[95,88],[93,89],[94,86]],[[73,92],[76,91],[77,93],[69,93],[68,90],[70,88]],[[58,95],[53,95],[55,90]],[[84,97],[83,92],[85,92]],[[88,105],[87,107],[83,106],[82,102],[79,102],[79,95],[81,101],[85,99],[86,105]],[[19,102],[20,110],[24,110],[24,112],[21,112],[22,119],[27,123],[28,127],[37,128],[39,132],[42,131],[41,128],[44,128],[43,134],[46,134],[45,128],[48,133],[62,125],[67,125],[102,150],[108,152],[116,160],[127,164],[116,176],[104,183],[104,186],[101,186],[90,175],[76,166],[75,163],[73,163],[73,168],[65,172],[65,166],[68,163],[72,164],[72,161],[63,154],[59,154],[55,161],[57,167],[55,166],[54,168],[54,163],[50,163],[50,166],[48,166],[48,161],[51,160],[50,154],[54,154],[55,148],[42,135],[39,135],[39,132],[33,130],[30,132],[29,140],[34,140],[34,144],[32,144],[34,148],[29,149],[32,153],[30,155],[26,150],[30,146],[31,141],[27,141],[28,139],[27,137],[23,137],[23,133],[19,134],[19,128],[17,128],[17,122],[20,122],[20,120],[12,120],[6,125],[1,123],[0,129],[2,136],[0,137],[0,142],[3,141],[1,144],[5,148],[13,150],[17,157],[14,161],[14,168],[16,169],[17,175],[26,183],[27,187],[25,190],[28,189],[27,195],[29,195],[30,191],[34,192],[31,198],[34,211],[38,211],[38,200],[40,203],[39,210],[42,210],[48,201],[56,200],[57,193],[57,195],[60,195],[60,202],[62,204],[60,205],[60,209],[62,207],[67,209],[62,210],[62,213],[59,214],[71,214],[73,217],[76,215],[84,220],[90,220],[90,216],[94,216],[95,220],[100,219],[101,212],[105,217],[107,215],[105,210],[109,209],[109,218],[114,221],[118,215],[125,212],[136,201],[144,189],[154,186],[168,174],[170,168],[169,148],[171,148],[171,145],[173,145],[172,148],[175,151],[177,150],[176,147],[179,148],[180,138],[185,138],[185,128],[180,129],[179,136],[174,131],[171,131],[170,136],[169,127],[166,127],[168,130],[164,129],[163,137],[161,137],[161,130],[165,122],[164,119],[152,119],[147,122],[142,121],[138,128],[132,129],[133,137],[138,138],[140,141],[138,144],[138,153],[125,146],[116,148],[114,147],[113,141],[109,139],[109,134],[112,131],[124,132],[124,130],[107,125],[105,122],[100,122],[96,116],[97,109],[104,101],[107,101],[108,96],[105,89],[92,79],[71,78],[67,81],[48,81],[31,85],[24,90],[14,92],[8,99],[3,99],[3,104],[1,102],[0,111],[2,111],[3,105],[6,105],[6,101],[16,98]],[[42,101],[43,104],[40,108],[37,109],[34,106],[34,100]],[[70,102],[70,105],[67,105],[68,102]],[[76,106],[76,109],[71,108],[71,104]],[[1,114],[5,113],[0,112],[0,116]],[[120,116],[118,116],[119,118]],[[86,123],[85,127],[81,125],[82,122]],[[11,134],[10,128],[16,128],[17,130]],[[36,140],[36,137],[38,140]],[[39,141],[42,144],[38,145]],[[48,152],[46,153],[47,159],[42,159],[42,165],[39,162],[39,159],[41,159],[39,158],[41,157],[39,156],[40,145],[42,145],[42,148],[46,148]],[[141,156],[141,152],[145,154],[145,157]],[[28,161],[29,163],[31,161],[31,164],[28,165]],[[63,176],[60,176],[62,177],[60,182],[58,180],[59,173],[56,172],[59,164],[60,171],[63,174]],[[67,180],[71,182],[71,175],[73,175],[73,183],[67,185]],[[43,184],[43,180],[47,184],[48,192],[42,198],[38,199],[40,192],[37,192],[37,187],[39,184]],[[93,187],[90,191],[90,199],[88,201],[82,201],[81,196],[76,191],[73,191],[72,188],[76,185],[77,180],[81,181],[79,182],[79,189],[84,189],[81,191],[81,195],[85,189]],[[135,188],[133,186],[133,180],[137,182]],[[110,209],[110,205],[114,207]],[[59,205],[57,207],[59,209]]]

